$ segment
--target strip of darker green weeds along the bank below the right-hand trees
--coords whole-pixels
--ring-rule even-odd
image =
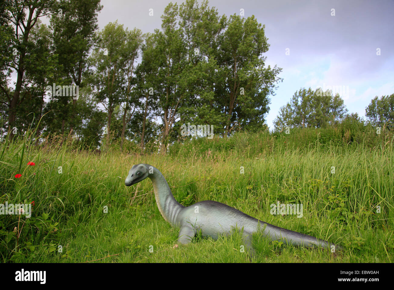
[[[237,156],[259,157],[270,152],[283,152],[288,149],[308,150],[316,148],[327,150],[335,146],[338,150],[354,150],[365,146],[368,150],[375,150],[380,146],[389,146],[393,132],[377,129],[371,124],[364,124],[355,116],[347,116],[344,122],[326,128],[298,128],[294,127],[281,132],[269,132],[268,129],[259,133],[238,131],[230,138],[215,136],[212,139],[197,137],[174,142],[169,146],[172,156],[215,156],[233,152]]]

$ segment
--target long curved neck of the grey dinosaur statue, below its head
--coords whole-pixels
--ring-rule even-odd
[[[184,206],[174,198],[167,181],[157,168],[153,167],[153,174],[149,177],[153,183],[154,196],[160,213],[168,223],[177,225],[178,214]]]

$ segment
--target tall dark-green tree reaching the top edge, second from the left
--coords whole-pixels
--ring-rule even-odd
[[[53,69],[57,77],[56,85],[76,85],[80,91],[90,90],[85,81],[88,70],[88,54],[95,41],[97,30],[97,14],[101,10],[99,0],[70,0],[62,1],[55,15],[50,19],[52,54],[56,56],[58,65]],[[52,85],[48,82],[47,85]],[[47,132],[58,134],[82,134],[82,120],[88,120],[90,114],[95,114],[95,106],[86,106],[91,103],[85,99],[79,104],[78,99],[70,96],[51,95],[47,110],[50,112],[50,121]],[[87,112],[87,107],[90,111]],[[82,109],[83,108],[83,109]],[[48,116],[48,117],[49,117]],[[89,137],[87,137],[89,138]],[[87,142],[87,140],[85,141]]]

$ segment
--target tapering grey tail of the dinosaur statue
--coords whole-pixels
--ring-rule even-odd
[[[279,226],[274,226],[263,221],[259,221],[257,227],[264,228],[264,234],[268,236],[272,241],[282,241],[288,245],[299,245],[304,247],[322,247],[326,249],[342,250],[342,247],[335,245],[323,239],[318,239],[309,235],[294,232],[292,230],[286,230]]]

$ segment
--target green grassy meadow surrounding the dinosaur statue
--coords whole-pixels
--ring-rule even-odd
[[[36,149],[30,137],[3,142],[0,204],[34,201],[34,206],[31,218],[0,215],[0,260],[392,262],[394,153],[389,141],[373,150],[362,144],[317,142],[309,147],[275,143],[256,151],[256,144],[247,154],[248,140],[242,141],[246,142],[242,150],[232,140],[232,148],[193,154],[181,147],[169,155],[115,150],[95,155],[71,149],[72,141]],[[345,250],[286,246],[256,233],[256,255],[251,257],[240,251],[238,232],[217,240],[197,236],[189,245],[176,247],[179,229],[160,215],[151,181],[125,186],[128,170],[138,163],[161,170],[184,206],[216,200],[273,225],[338,243]],[[303,204],[303,217],[271,215],[270,205],[277,201]]]

